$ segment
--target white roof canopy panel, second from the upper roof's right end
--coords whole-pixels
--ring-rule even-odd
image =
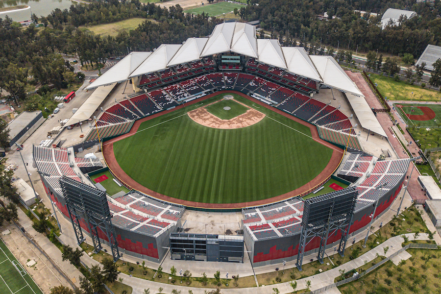
[[[319,72],[303,47],[282,47],[282,51],[289,72],[322,82]]]

